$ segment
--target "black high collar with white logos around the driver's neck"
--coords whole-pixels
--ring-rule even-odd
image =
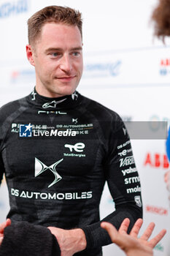
[[[74,91],[71,95],[58,98],[44,97],[39,95],[35,88],[27,97],[29,103],[44,110],[74,108],[80,104],[81,98],[81,95],[77,91]]]

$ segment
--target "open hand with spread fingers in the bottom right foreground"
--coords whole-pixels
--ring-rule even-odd
[[[134,227],[131,230],[131,233],[128,235],[127,230],[129,222],[129,219],[124,219],[119,231],[117,231],[116,228],[108,222],[102,222],[101,227],[107,230],[112,242],[117,244],[117,246],[120,246],[120,249],[123,249],[126,255],[152,256],[152,249],[166,234],[166,230],[161,230],[157,236],[148,241],[152,235],[152,230],[154,229],[155,224],[151,222],[147,229],[144,231],[143,235],[138,238],[137,236],[139,234],[139,230],[142,227],[142,219],[138,219],[136,221]]]

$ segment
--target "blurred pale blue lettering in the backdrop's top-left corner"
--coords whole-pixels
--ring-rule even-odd
[[[6,2],[0,6],[0,18],[8,18],[28,11],[28,0]]]

